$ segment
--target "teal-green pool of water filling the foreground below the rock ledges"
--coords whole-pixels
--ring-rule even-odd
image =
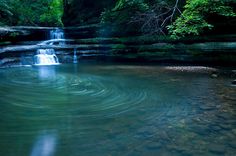
[[[0,155],[233,156],[231,81],[160,66],[0,69]]]

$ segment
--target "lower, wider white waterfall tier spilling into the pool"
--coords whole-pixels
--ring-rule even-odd
[[[38,49],[34,56],[35,65],[58,65],[59,61],[54,49]]]

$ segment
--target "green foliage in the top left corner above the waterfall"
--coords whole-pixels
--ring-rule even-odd
[[[63,0],[0,0],[2,25],[62,26]]]

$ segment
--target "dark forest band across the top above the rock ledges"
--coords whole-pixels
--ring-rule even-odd
[[[76,27],[168,35],[236,33],[235,0],[0,0],[1,26]]]

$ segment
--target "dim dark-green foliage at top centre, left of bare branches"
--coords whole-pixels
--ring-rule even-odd
[[[101,14],[102,23],[124,24],[137,12],[143,12],[149,7],[144,0],[118,0],[113,9],[107,9]]]

